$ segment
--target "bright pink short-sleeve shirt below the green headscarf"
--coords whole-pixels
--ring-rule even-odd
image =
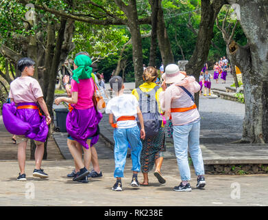
[[[75,80],[71,80],[71,92],[78,92],[77,103],[73,104],[73,107],[75,107],[75,109],[90,109],[94,106],[94,87],[95,84],[93,78],[84,80],[80,79],[79,83],[76,83]]]

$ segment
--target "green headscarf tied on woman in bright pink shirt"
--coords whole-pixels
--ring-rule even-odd
[[[75,57],[75,65],[77,65],[77,69],[73,70],[73,80],[79,83],[79,79],[83,80],[91,78],[93,70],[92,67],[90,67],[91,64],[91,59],[84,54]]]

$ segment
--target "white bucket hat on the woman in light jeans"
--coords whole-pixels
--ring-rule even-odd
[[[165,73],[162,74],[162,78],[166,83],[177,83],[185,78],[185,75],[180,72],[178,65],[169,64],[165,69]]]

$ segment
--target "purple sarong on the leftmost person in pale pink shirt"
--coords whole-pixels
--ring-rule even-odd
[[[34,102],[19,103],[18,107],[22,105],[37,107]],[[45,142],[49,133],[46,118],[39,115],[38,109],[16,109],[14,102],[3,104],[3,124],[8,132],[14,135],[25,135],[38,142]]]

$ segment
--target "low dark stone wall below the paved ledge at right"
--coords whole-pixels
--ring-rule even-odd
[[[205,164],[205,172],[215,175],[268,174],[268,164]]]

